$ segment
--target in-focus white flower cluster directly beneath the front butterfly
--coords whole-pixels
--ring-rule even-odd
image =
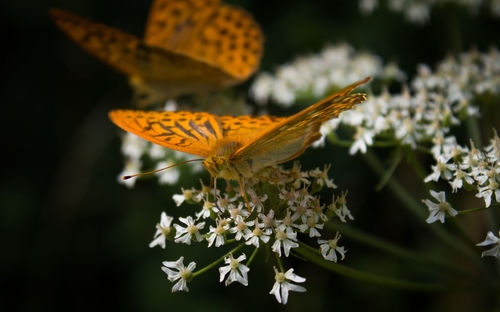
[[[226,185],[225,192],[215,190],[215,203],[214,189],[203,183],[200,189],[183,189],[182,194],[174,195],[177,206],[187,202],[199,205],[200,211],[194,216],[179,218],[179,222],[162,213],[150,247],[165,248],[167,240],[188,245],[205,241],[208,247],[239,243],[238,249],[253,247],[254,253],[260,247],[270,246],[277,259],[280,259],[288,257],[294,248],[299,247],[297,235],[301,234],[317,241],[317,252],[326,260],[336,262],[337,254],[343,259],[346,250],[338,244],[340,234],[328,240],[321,233],[324,223],[333,217],[338,217],[342,222],[353,219],[346,206],[346,193],[334,196],[328,206],[321,204],[319,196],[315,195],[323,187],[336,188],[328,178],[328,169],[326,166],[322,170],[301,171],[298,163],[289,170],[268,168],[266,174],[269,180],[277,182],[256,179],[245,181],[249,207],[239,187],[230,183]],[[245,254],[237,258],[232,253],[227,254],[225,266],[219,268],[220,281],[225,280],[226,285],[232,282],[247,285],[250,269],[248,262],[243,264],[245,260]],[[280,261],[278,264],[281,267]],[[177,270],[173,271],[172,268]],[[186,282],[196,275],[194,268],[194,263],[185,268],[183,258],[177,262],[164,262],[163,270],[169,279],[178,281],[172,291],[188,291]],[[292,282],[303,281],[304,278],[293,274],[293,269],[277,271],[276,283],[270,293],[278,302],[285,304],[289,291],[305,291],[305,288]]]

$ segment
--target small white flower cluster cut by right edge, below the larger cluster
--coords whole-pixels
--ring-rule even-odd
[[[466,186],[472,188],[476,190],[476,197],[484,200],[485,207],[490,207],[493,195],[495,201],[500,203],[500,138],[496,131],[484,151],[477,149],[473,143],[470,148],[461,146],[453,136],[436,137],[434,143],[432,152],[436,164],[424,182],[445,180],[454,193]],[[457,214],[446,202],[444,192],[431,191],[431,195],[439,204],[424,201],[431,213],[427,222],[440,220],[443,223],[445,212],[451,216]]]

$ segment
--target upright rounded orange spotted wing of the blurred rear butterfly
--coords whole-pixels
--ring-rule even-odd
[[[243,81],[259,66],[264,36],[244,10],[216,0],[156,0],[145,42],[220,68]]]

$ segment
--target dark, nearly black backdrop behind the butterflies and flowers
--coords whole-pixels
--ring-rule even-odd
[[[385,9],[364,17],[357,1],[226,2],[241,5],[262,25],[263,70],[318,52],[327,43],[347,42],[396,61],[411,77],[418,63],[434,65],[450,53],[485,51],[500,42],[500,19],[453,5],[437,7],[427,25],[417,26]],[[180,186],[196,185],[199,177],[184,176],[171,187],[144,179],[132,190],[116,183],[123,160],[119,132],[107,111],[130,106],[127,80],[80,49],[48,17],[49,8],[67,9],[142,36],[149,5],[137,0],[0,4],[1,135],[6,143],[0,187],[1,310],[489,309],[486,294],[400,291],[327,274],[296,259],[287,267],[307,277],[308,292],[292,293],[281,307],[268,295],[274,273],[263,253],[246,288],[223,286],[213,270],[190,283],[189,293],[171,294],[161,261],[184,255],[202,267],[221,253],[204,244],[148,248],[161,211],[184,215],[182,209],[189,209],[175,209],[171,195]],[[249,85],[238,88],[245,92]],[[350,191],[355,227],[408,248],[432,240],[422,220],[399,209],[388,192],[373,191],[376,177],[346,149],[310,150],[301,162],[309,169],[333,163],[331,176]],[[411,180],[401,170],[399,176]],[[200,176],[207,181],[206,174]],[[484,233],[478,231],[474,240]],[[377,250],[349,239],[343,243],[349,250],[347,265],[419,277]]]

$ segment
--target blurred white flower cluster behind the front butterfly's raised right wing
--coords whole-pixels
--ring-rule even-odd
[[[261,73],[250,88],[250,96],[258,103],[276,102],[291,106],[297,99],[322,97],[360,77],[396,79],[405,75],[395,64],[383,65],[380,57],[356,52],[348,44],[328,46],[319,54],[298,57],[280,66],[276,73]]]

